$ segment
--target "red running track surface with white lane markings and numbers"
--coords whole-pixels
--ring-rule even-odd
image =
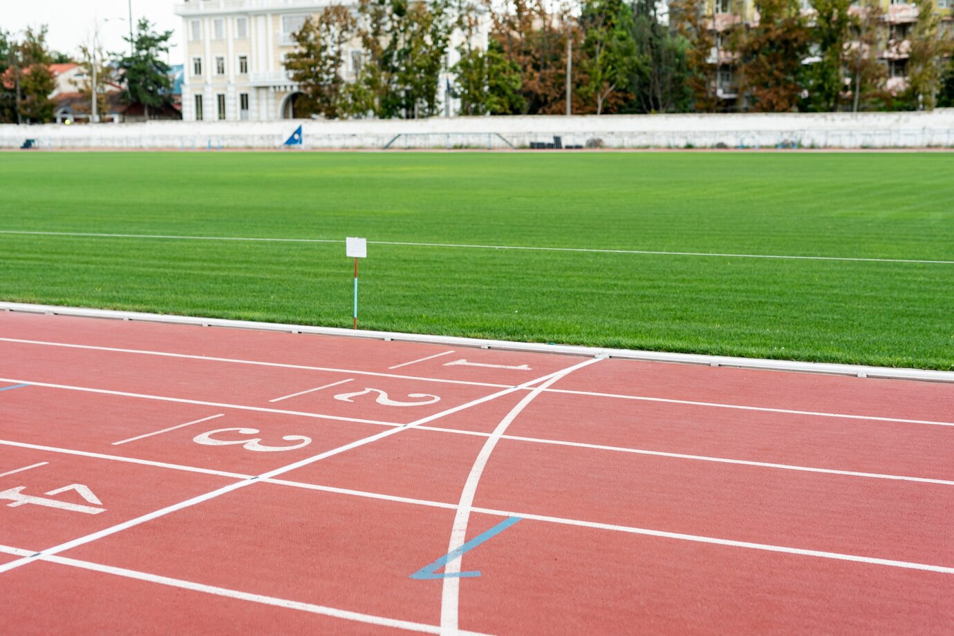
[[[954,386],[0,314],[0,633],[954,632]]]

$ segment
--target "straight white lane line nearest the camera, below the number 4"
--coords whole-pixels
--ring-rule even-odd
[[[24,550],[17,547],[11,547],[10,545],[0,545],[0,552],[4,554],[11,554],[14,556],[24,556],[29,557],[34,552],[29,550]],[[46,561],[52,564],[66,565],[69,567],[75,567],[84,570],[91,570],[93,572],[100,572],[103,574],[112,574],[114,576],[120,576],[126,579],[135,579],[136,581],[145,581],[147,583],[153,583],[157,585],[167,585],[170,587],[177,587],[179,589],[187,589],[194,592],[202,592],[204,594],[212,594],[214,596],[221,596],[229,599],[236,599],[239,601],[246,601],[251,603],[258,603],[261,605],[272,605],[274,607],[282,607],[285,609],[294,609],[298,611],[304,611],[311,614],[321,614],[322,616],[329,616],[332,618],[343,619],[345,621],[355,621],[358,623],[366,623],[369,625],[377,625],[384,627],[394,627],[397,629],[405,629],[408,631],[422,632],[425,634],[436,634],[440,632],[438,626],[426,625],[425,623],[414,623],[412,621],[402,621],[400,619],[387,618],[384,616],[376,616],[374,614],[365,614],[363,612],[351,611],[348,609],[339,609],[337,607],[329,607],[327,605],[315,605],[312,603],[303,603],[301,601],[292,601],[289,599],[281,599],[274,596],[265,596],[262,594],[253,594],[251,592],[242,592],[236,589],[230,589],[227,587],[219,587],[218,585],[205,585],[200,583],[195,583],[192,581],[185,581],[183,579],[174,579],[172,577],[160,576],[158,574],[150,574],[148,572],[140,572],[138,570],[131,570],[125,567],[114,567],[113,565],[103,565],[95,564],[89,561],[80,561],[78,559],[71,559],[68,557],[59,557],[53,555],[43,555],[39,557],[41,561]],[[475,634],[477,632],[460,632],[462,634]]]

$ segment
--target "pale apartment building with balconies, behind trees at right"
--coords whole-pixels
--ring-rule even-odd
[[[907,60],[911,51],[907,36],[918,21],[918,8],[896,0],[880,2],[884,37],[875,54],[887,71],[885,88],[891,92],[902,92],[907,86]],[[804,13],[813,12],[809,0],[800,0],[800,3]],[[860,6],[861,3],[855,3],[855,8]],[[942,28],[949,28],[954,0],[937,0],[937,6],[944,20]],[[707,0],[706,10],[711,16],[709,25],[716,45],[707,60],[717,65],[716,96],[722,101],[725,110],[734,110],[742,106],[740,100],[744,99],[744,95],[739,95],[738,55],[728,46],[729,32],[757,24],[758,12],[753,0]],[[806,63],[810,63],[810,60],[806,60]]]

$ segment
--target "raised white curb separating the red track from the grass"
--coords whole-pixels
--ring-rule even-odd
[[[490,340],[459,338],[453,336],[428,336],[426,334],[406,334],[389,331],[355,331],[338,327],[316,327],[312,325],[286,324],[280,322],[258,322],[249,320],[230,320],[225,318],[200,318],[191,316],[173,316],[166,314],[147,314],[142,312],[114,311],[106,309],[86,309],[82,307],[61,307],[57,305],[38,305],[22,302],[0,302],[0,311],[23,312],[30,314],[49,314],[80,318],[108,318],[117,320],[138,320],[144,322],[163,322],[171,324],[190,324],[204,327],[225,327],[232,329],[252,329],[257,331],[275,331],[280,333],[312,334],[319,336],[341,336],[373,340],[395,340],[417,342],[421,344],[441,344],[475,349],[499,349],[502,351],[522,351],[528,353],[546,353],[565,356],[586,356],[593,358],[630,359],[644,362],[673,362],[676,364],[696,364],[702,366],[727,366],[741,369],[767,371],[789,371],[794,373],[816,373],[832,376],[855,376],[861,378],[879,378],[888,380],[923,380],[954,383],[954,371],[934,371],[903,367],[865,366],[861,364],[835,364],[830,362],[800,362],[783,359],[735,358],[730,356],[705,356],[701,354],[674,354],[658,351],[637,351],[633,349],[611,349],[604,347],[586,347],[579,345],[555,345],[539,342],[516,342],[510,340]],[[51,343],[57,344],[57,343]],[[266,363],[267,364],[267,363]],[[280,366],[280,365],[277,365]],[[309,368],[309,367],[305,367]],[[321,370],[317,368],[315,370]],[[359,375],[390,376],[373,372],[354,372]],[[436,380],[466,384],[463,380]],[[482,382],[470,382],[477,386],[494,386]]]

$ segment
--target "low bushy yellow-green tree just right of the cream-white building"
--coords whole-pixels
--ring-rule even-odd
[[[455,93],[461,98],[461,114],[514,114],[526,106],[520,94],[520,67],[508,60],[497,40],[490,40],[487,51],[465,50],[452,71],[456,74]]]

